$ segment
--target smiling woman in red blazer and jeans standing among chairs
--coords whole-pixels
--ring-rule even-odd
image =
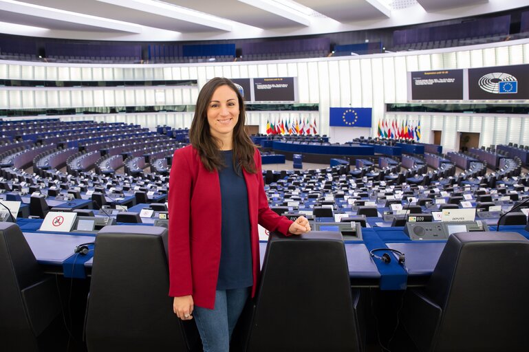
[[[182,320],[195,317],[204,352],[229,351],[233,328],[259,277],[257,224],[310,231],[268,208],[261,156],[244,131],[244,100],[227,78],[197,98],[191,145],[175,151],[169,179],[169,296]]]

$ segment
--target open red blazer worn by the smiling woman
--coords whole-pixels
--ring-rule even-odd
[[[257,173],[243,168],[248,190],[252,244],[252,297],[259,278],[257,223],[269,231],[288,233],[292,221],[268,208],[261,175],[261,155],[254,154]],[[221,247],[219,174],[202,164],[193,146],[177,149],[169,178],[169,296],[193,295],[199,307],[213,309]]]

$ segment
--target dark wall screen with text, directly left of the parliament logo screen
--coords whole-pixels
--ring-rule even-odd
[[[463,100],[463,70],[411,72],[410,100]]]

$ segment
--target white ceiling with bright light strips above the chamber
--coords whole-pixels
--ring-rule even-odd
[[[111,41],[249,39],[395,27],[525,6],[529,0],[0,0],[0,33]]]

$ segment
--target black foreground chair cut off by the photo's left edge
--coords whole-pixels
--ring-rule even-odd
[[[72,251],[73,252],[73,251]],[[0,341],[3,351],[62,351],[39,337],[61,312],[55,278],[45,276],[18,225],[0,222]],[[62,342],[65,342],[63,340]]]

